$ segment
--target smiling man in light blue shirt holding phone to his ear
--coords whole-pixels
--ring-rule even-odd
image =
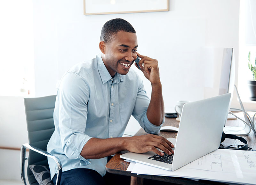
[[[107,157],[123,150],[164,155],[159,148],[173,153],[172,143],[153,135],[164,122],[157,60],[136,52],[135,30],[120,18],[104,24],[99,47],[100,55],[68,70],[58,87],[55,131],[47,151],[61,161],[62,184],[104,184]],[[130,70],[137,55],[152,85],[151,100],[138,74]],[[131,115],[150,134],[122,137]],[[55,183],[57,168],[52,159],[48,161]]]

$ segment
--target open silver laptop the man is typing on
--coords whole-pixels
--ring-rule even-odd
[[[231,93],[228,93],[186,103],[181,113],[174,154],[166,154],[166,159],[154,152],[128,152],[120,157],[174,171],[218,149],[228,115],[230,97]]]

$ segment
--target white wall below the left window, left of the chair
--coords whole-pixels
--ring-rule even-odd
[[[28,143],[23,97],[0,96],[0,102],[0,146],[20,148]],[[19,150],[0,149],[0,179],[21,183]]]

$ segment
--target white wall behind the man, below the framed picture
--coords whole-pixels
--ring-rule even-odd
[[[167,12],[87,16],[83,0],[34,1],[36,96],[55,94],[71,66],[100,52],[101,27],[112,18],[130,22],[138,52],[159,61],[166,111],[218,94],[222,48],[233,47],[238,61],[239,0],[170,0]]]

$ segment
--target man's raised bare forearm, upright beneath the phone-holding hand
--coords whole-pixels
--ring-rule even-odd
[[[160,125],[164,118],[164,100],[162,84],[152,85],[151,100],[147,110],[148,120],[154,125]]]

